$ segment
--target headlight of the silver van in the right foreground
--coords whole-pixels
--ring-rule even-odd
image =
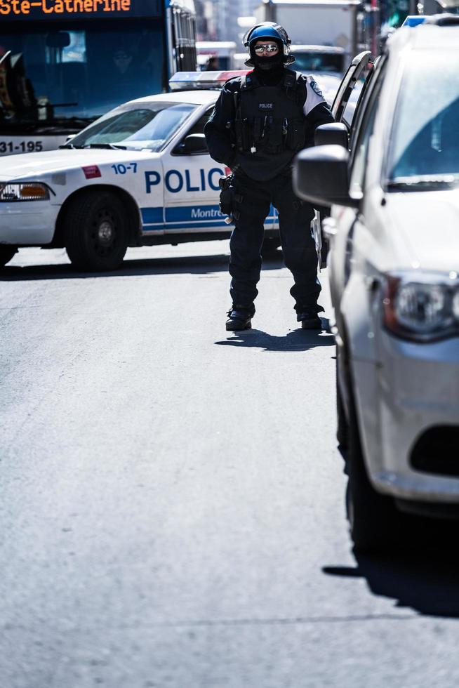
[[[459,334],[457,275],[387,274],[383,312],[385,327],[393,334],[428,342]]]

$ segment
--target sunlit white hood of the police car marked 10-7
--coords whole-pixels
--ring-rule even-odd
[[[7,155],[1,158],[0,181],[31,179],[47,173],[63,172],[91,165],[115,164],[123,162],[152,161],[159,153],[149,150],[110,150],[105,148],[85,148],[83,150],[65,148],[48,150],[43,153],[24,153]]]

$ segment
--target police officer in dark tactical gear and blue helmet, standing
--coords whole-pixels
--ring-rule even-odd
[[[289,44],[285,29],[274,22],[250,29],[244,46],[246,65],[254,69],[225,83],[204,128],[211,157],[234,173],[230,331],[251,327],[270,204],[279,211],[297,320],[303,329],[321,329],[317,314],[324,309],[317,304],[321,286],[310,230],[314,209],[293,193],[292,161],[299,150],[314,145],[315,128],[333,117],[314,79],[286,68],[295,60]]]

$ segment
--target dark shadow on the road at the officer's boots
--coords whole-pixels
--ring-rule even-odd
[[[335,338],[329,332],[328,319],[321,318],[324,332],[296,329],[285,336],[274,336],[262,330],[251,329],[231,333],[227,339],[215,342],[222,346],[239,346],[263,351],[307,351],[318,346],[332,346]]]

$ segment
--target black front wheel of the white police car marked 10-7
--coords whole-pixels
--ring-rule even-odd
[[[128,248],[128,218],[124,206],[109,191],[91,190],[76,197],[67,209],[64,243],[79,270],[117,270]]]

